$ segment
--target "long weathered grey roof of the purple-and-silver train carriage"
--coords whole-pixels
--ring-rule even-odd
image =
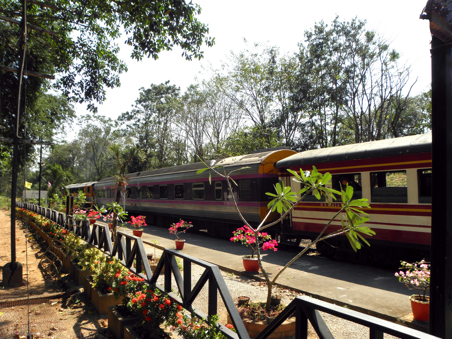
[[[215,165],[247,166],[247,165],[251,165],[254,163],[259,164],[262,162],[266,162],[266,160],[268,160],[268,162],[275,163],[275,162],[277,162],[277,160],[271,156],[272,154],[275,154],[275,153],[283,153],[283,154],[285,153],[287,155],[291,155],[291,154],[294,154],[295,151],[286,150],[286,149],[284,149],[284,150],[265,150],[264,152],[260,152],[260,153],[251,153],[251,154],[246,154],[246,155],[237,155],[237,156],[231,156],[229,158],[218,159],[218,160],[216,160]],[[146,177],[146,176],[156,175],[156,174],[169,174],[169,173],[177,173],[177,172],[185,172],[185,171],[195,171],[195,170],[200,170],[205,167],[206,166],[202,162],[195,162],[193,164],[171,166],[171,167],[160,168],[157,170],[148,170],[148,171],[143,171],[143,172],[129,173],[126,175],[128,177],[130,177],[131,179],[133,179],[133,178],[137,178],[137,177]],[[113,179],[114,179],[113,177],[100,179],[97,183],[99,184],[99,183],[103,183],[103,182],[110,182],[110,181],[113,181]]]

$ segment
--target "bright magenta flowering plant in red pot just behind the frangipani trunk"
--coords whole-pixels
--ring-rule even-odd
[[[231,238],[231,241],[240,241],[246,247],[251,247],[251,255],[243,256],[243,267],[247,272],[258,272],[259,271],[259,262],[257,257],[254,257],[254,253],[256,252],[256,246],[262,246],[263,250],[273,249],[273,251],[277,251],[276,246],[278,243],[276,240],[272,240],[271,236],[266,232],[259,232],[258,234],[258,243],[256,244],[256,238],[254,237],[254,231],[250,229],[250,227],[244,225],[243,227],[237,228],[236,231],[232,232],[234,235]],[[268,240],[268,241],[265,241]],[[265,242],[264,242],[265,241]]]

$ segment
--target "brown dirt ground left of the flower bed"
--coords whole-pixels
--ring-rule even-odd
[[[0,210],[0,268],[10,261],[9,211]],[[106,329],[107,316],[99,316],[80,293],[71,294],[61,282],[53,283],[39,261],[45,250],[24,222],[16,220],[16,260],[23,265],[18,287],[0,284],[0,338],[114,338]],[[27,297],[28,289],[28,297]],[[29,300],[29,305],[27,303]]]

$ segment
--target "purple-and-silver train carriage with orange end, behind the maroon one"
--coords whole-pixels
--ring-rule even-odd
[[[233,188],[233,194],[246,220],[257,224],[266,215],[269,197],[265,193],[273,192],[273,185],[278,182],[275,164],[295,153],[287,149],[270,149],[217,160],[216,164],[223,165],[226,172],[249,167],[233,175],[239,186]],[[196,174],[204,167],[202,163],[195,163],[127,174],[130,180],[126,211],[146,214],[148,222],[168,227],[183,218],[193,221],[198,229],[207,229],[209,234],[230,237],[243,221],[235,210],[226,180],[212,173],[212,184],[209,184],[208,171]],[[113,184],[113,177],[95,184],[98,205],[115,199],[117,192],[112,188]],[[273,215],[274,218],[278,215]]]

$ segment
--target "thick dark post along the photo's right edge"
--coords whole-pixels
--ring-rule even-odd
[[[432,34],[432,242],[429,334],[452,339],[452,3],[428,0]]]

